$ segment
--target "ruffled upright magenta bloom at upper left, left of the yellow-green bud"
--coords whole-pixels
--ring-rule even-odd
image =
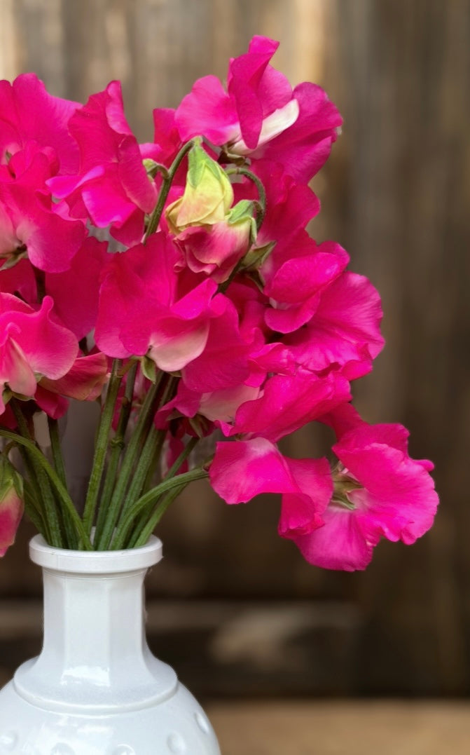
[[[93,94],[69,129],[80,148],[80,168],[76,176],[49,181],[54,195],[66,199],[72,217],[90,217],[99,228],[110,225],[123,244],[140,242],[157,195],[124,116],[120,83]]]

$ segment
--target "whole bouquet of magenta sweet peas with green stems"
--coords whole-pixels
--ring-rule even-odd
[[[306,232],[342,120],[270,65],[277,46],[254,37],[226,87],[205,76],[155,109],[145,144],[119,82],[84,106],[32,74],[0,82],[2,554],[23,509],[55,547],[139,547],[202,477],[228,504],[280,493],[279,535],[327,569],[364,569],[381,538],[411,544],[432,525],[431,462],[351,403],[383,347],[379,295]],[[101,402],[78,508],[68,399]],[[333,464],[279,450],[311,422],[336,433]]]

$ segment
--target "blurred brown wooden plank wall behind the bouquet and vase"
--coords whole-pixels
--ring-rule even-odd
[[[470,2],[468,0],[0,0],[0,78],[34,70],[85,100],[113,78],[140,140],[152,108],[223,78],[251,35],[275,65],[323,85],[343,135],[315,179],[312,233],[352,254],[382,294],[387,339],[356,388],[369,421],[401,421],[432,458],[435,529],[384,543],[361,574],[321,572],[276,535],[269,497],[226,507],[205,485],[161,527],[149,581],[156,650],[195,692],[470,692]],[[290,440],[321,451],[315,430]],[[85,451],[84,451],[85,452]],[[38,645],[29,530],[0,565],[0,666]],[[159,596],[159,597],[158,597]],[[195,657],[197,656],[197,658]]]

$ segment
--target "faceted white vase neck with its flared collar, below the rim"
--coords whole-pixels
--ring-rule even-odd
[[[63,556],[66,569],[57,568],[60,559],[52,566],[42,562],[44,644],[41,655],[17,671],[17,691],[29,700],[41,696],[57,710],[93,707],[100,713],[146,707],[173,694],[174,671],[146,643],[146,567],[125,571],[125,559],[138,563],[127,553],[114,570],[99,572],[106,568],[103,554],[81,553],[73,570],[70,553]]]

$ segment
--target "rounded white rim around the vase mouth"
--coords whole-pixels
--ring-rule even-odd
[[[155,565],[162,558],[162,546],[151,535],[146,545],[127,550],[66,550],[48,545],[42,535],[35,535],[29,541],[29,558],[57,572],[119,574]]]

